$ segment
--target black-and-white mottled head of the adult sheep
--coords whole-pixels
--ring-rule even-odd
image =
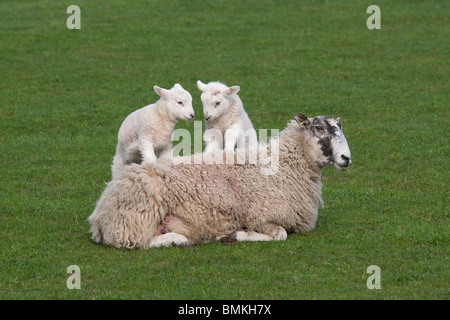
[[[340,118],[328,116],[308,118],[298,113],[295,120],[300,127],[315,137],[320,146],[318,158],[322,165],[334,165],[339,170],[348,168],[352,161]]]

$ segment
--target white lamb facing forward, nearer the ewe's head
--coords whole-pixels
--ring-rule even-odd
[[[240,87],[227,87],[221,82],[206,85],[200,80],[197,81],[197,87],[202,91],[206,127],[205,152],[256,147],[256,132],[237,95]],[[222,140],[217,139],[214,134],[217,130],[220,131]]]

